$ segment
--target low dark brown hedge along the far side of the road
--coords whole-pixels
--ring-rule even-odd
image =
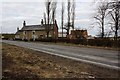
[[[21,39],[15,39],[15,40],[21,40]],[[28,40],[24,40],[28,41]],[[33,39],[30,39],[30,41],[33,41]],[[108,38],[106,39],[67,39],[67,38],[58,38],[58,39],[52,39],[52,38],[44,38],[44,39],[35,39],[35,41],[41,41],[41,42],[63,42],[63,43],[73,43],[73,44],[81,44],[81,45],[90,45],[90,46],[103,46],[103,47],[120,47],[120,40],[117,42],[114,40],[110,40]]]

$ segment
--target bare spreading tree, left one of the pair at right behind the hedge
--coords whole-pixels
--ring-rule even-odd
[[[104,25],[105,25],[105,17],[107,16],[107,9],[108,9],[108,3],[101,2],[101,4],[98,7],[97,15],[94,17],[97,20],[97,23],[99,24],[102,32],[101,37],[104,37]]]

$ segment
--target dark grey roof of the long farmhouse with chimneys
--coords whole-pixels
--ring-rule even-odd
[[[21,31],[27,31],[27,30],[45,30],[45,28],[48,27],[48,25],[27,25],[21,29]],[[50,24],[50,29],[53,29],[54,25]]]

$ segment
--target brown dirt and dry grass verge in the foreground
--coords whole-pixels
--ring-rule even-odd
[[[2,44],[2,78],[118,78],[118,71]]]

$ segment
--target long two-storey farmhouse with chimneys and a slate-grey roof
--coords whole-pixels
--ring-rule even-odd
[[[23,27],[21,30],[17,28],[17,32],[15,34],[15,39],[21,40],[36,40],[47,38],[47,31],[49,31],[49,38],[58,38],[58,26],[55,20],[55,24],[43,24],[43,20],[41,21],[41,25],[26,25],[26,22],[23,22]]]

